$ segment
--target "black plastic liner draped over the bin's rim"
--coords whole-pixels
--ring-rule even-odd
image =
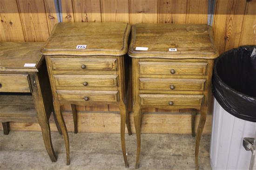
[[[216,100],[227,112],[256,122],[255,45],[222,53],[214,63],[212,84]]]

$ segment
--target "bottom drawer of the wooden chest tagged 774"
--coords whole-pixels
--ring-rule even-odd
[[[118,91],[57,90],[57,94],[60,101],[119,101]],[[86,97],[88,98],[85,99]]]

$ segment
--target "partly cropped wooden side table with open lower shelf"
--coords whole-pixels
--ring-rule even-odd
[[[53,97],[46,62],[40,54],[43,44],[0,43],[0,122],[4,134],[9,133],[9,121],[38,122],[48,155],[56,162],[49,126]]]

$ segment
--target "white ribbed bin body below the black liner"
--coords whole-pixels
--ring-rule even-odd
[[[251,152],[243,148],[243,138],[254,138],[256,123],[238,119],[214,99],[210,146],[212,170],[249,170]]]

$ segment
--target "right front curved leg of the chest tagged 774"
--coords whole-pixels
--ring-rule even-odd
[[[122,146],[122,152],[123,152],[123,159],[125,167],[128,168],[128,161],[127,161],[127,155],[126,155],[126,146],[125,146],[125,122],[126,122],[126,106],[124,103],[119,104],[120,109],[120,116],[121,116],[121,146]]]

